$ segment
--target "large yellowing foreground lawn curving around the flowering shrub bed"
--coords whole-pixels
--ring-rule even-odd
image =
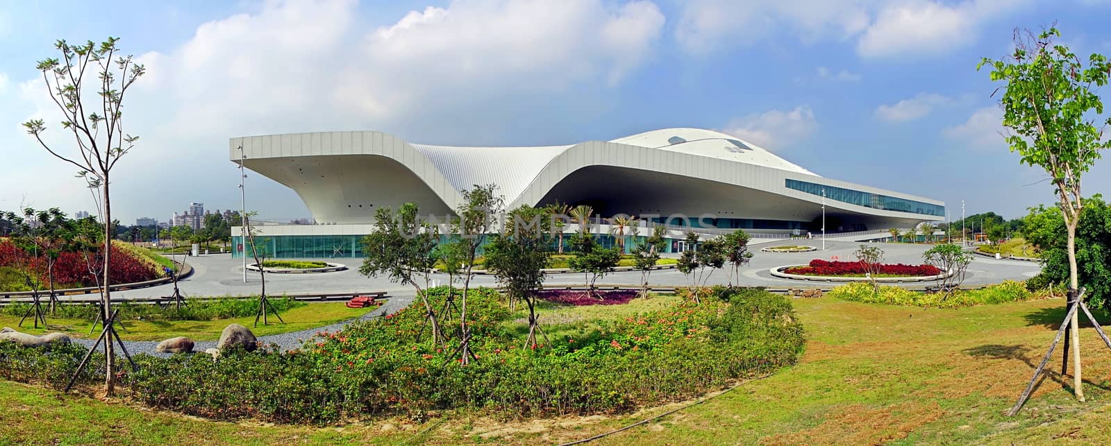
[[[633,301],[655,305],[663,297]],[[1062,387],[1060,354],[1022,412],[1013,404],[1063,317],[1060,300],[923,310],[794,300],[808,332],[800,363],[600,444],[1031,444],[1111,442],[1111,351],[1081,333],[1087,403]],[[556,325],[604,308],[549,308]],[[628,311],[628,310],[627,310]],[[580,314],[583,313],[583,314]],[[1071,382],[1071,377],[1068,378]],[[329,427],[212,423],[0,382],[0,438],[14,443],[516,443],[589,437],[635,414],[498,422],[437,414]],[[119,429],[118,432],[114,429]],[[427,429],[427,432],[426,432]],[[418,436],[419,434],[419,436]]]

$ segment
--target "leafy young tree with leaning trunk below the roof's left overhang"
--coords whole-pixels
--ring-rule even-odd
[[[432,326],[432,345],[444,343],[436,311],[424,290],[436,266],[438,235],[434,227],[421,222],[413,203],[402,204],[397,214],[389,206],[374,212],[374,229],[362,239],[364,259],[359,273],[377,277],[386,275],[392,282],[411,285],[424,304],[424,316]],[[423,284],[423,286],[422,286]]]

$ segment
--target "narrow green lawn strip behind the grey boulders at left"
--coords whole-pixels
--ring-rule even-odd
[[[260,320],[258,327],[252,326],[254,316],[216,321],[124,321],[123,326],[127,331],[120,330],[119,333],[120,337],[127,341],[162,341],[174,336],[189,336],[194,341],[216,341],[223,327],[233,323],[243,324],[256,335],[263,336],[329,325],[361,316],[371,310],[374,308],[348,308],[342,302],[310,303],[281,313],[281,317],[286,320],[284,324],[279,323],[272,313],[269,316],[270,324],[262,325]],[[39,330],[32,328],[30,317],[23,322],[22,327],[17,327],[16,324],[19,324],[19,317],[0,315],[0,326],[9,326],[24,333],[61,332],[88,338],[96,338],[100,334],[99,332],[89,334],[92,321],[53,318],[49,314],[47,315],[49,330],[41,328],[41,325]]]

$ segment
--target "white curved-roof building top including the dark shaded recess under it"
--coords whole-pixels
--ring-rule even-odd
[[[701,129],[529,148],[426,145],[382,132],[230,139],[230,160],[241,155],[248,169],[293,189],[318,224],[369,224],[377,207],[406,202],[422,214],[450,214],[460,191],[491,183],[510,209],[559,201],[589,204],[603,217],[682,214],[704,217],[693,225],[750,231],[820,231],[823,192],[831,232],[910,227],[945,215],[940,201],[825,179]]]

